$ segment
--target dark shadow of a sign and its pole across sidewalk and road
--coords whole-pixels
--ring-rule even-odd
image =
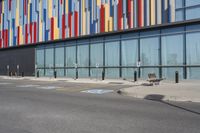
[[[181,107],[181,106],[178,106],[178,105],[163,101],[164,97],[165,97],[164,95],[151,94],[151,95],[147,95],[144,99],[160,102],[160,103],[172,106],[174,108],[178,108],[178,109],[181,109],[181,110],[184,110],[184,111],[196,114],[196,115],[200,115],[200,112],[197,112],[197,111],[194,111],[194,110],[191,110],[191,109],[188,109],[188,108],[184,108],[184,107]]]

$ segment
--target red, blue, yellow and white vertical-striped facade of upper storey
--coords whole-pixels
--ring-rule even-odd
[[[2,0],[0,48],[175,21],[175,0]]]

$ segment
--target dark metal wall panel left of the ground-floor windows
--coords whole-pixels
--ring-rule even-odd
[[[33,76],[35,71],[35,48],[18,48],[0,51],[0,75],[7,75],[9,70],[17,72],[19,65],[19,74],[24,72],[25,76]]]

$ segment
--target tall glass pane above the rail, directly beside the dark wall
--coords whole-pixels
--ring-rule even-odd
[[[36,65],[38,68],[44,67],[44,49],[36,50]]]

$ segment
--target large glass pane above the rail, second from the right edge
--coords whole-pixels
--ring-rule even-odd
[[[183,35],[162,36],[162,65],[183,65]]]

